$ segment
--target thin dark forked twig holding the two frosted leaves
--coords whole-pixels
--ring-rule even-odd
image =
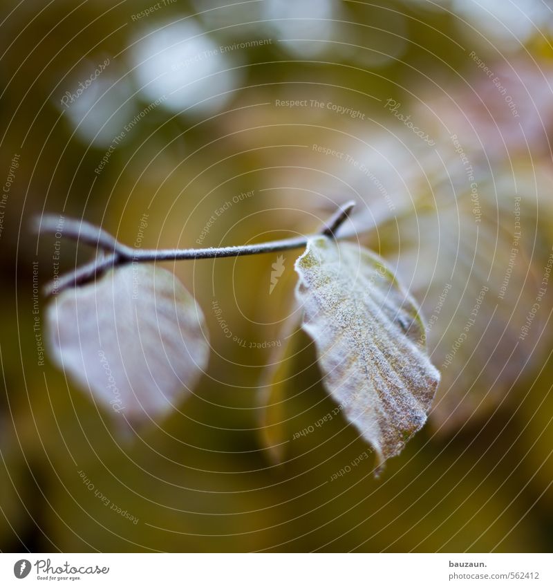
[[[66,218],[62,236],[73,241],[83,242],[106,252],[105,257],[97,257],[93,261],[75,268],[71,273],[62,275],[57,281],[52,281],[44,288],[44,295],[54,295],[67,288],[83,285],[93,281],[107,270],[126,265],[127,263],[146,263],[149,261],[182,261],[185,259],[216,259],[218,257],[242,257],[250,254],[263,254],[305,247],[313,236],[322,234],[329,238],[346,238],[350,234],[337,235],[339,227],[355,206],[350,201],[341,205],[337,211],[324,223],[316,234],[308,236],[294,236],[291,239],[269,241],[255,245],[238,245],[234,247],[212,247],[205,249],[133,249],[123,245],[111,234],[85,221]],[[39,234],[53,233],[59,230],[59,216],[43,216],[35,220],[35,232]]]

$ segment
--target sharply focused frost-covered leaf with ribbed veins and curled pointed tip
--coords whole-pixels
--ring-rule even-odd
[[[326,388],[382,465],[424,425],[440,380],[415,302],[384,261],[351,243],[312,239],[296,270]]]

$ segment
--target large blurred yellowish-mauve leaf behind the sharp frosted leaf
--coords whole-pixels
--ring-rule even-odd
[[[516,206],[525,210],[525,198],[518,203],[512,197],[498,209],[485,194],[482,188],[481,218],[465,194],[452,205],[402,214],[379,230],[380,252],[409,283],[428,318],[429,353],[442,375],[431,420],[442,432],[489,415],[521,371],[532,369],[540,353],[529,349],[549,311],[544,299],[532,328],[519,339],[543,269],[523,246],[534,239],[530,222],[523,224],[522,237],[514,228]]]

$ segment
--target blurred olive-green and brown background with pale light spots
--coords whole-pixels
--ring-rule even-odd
[[[553,548],[548,0],[5,0],[0,26],[1,550]],[[50,363],[38,288],[91,251],[32,216],[207,247],[350,199],[442,372],[381,478],[340,413],[315,426],[299,252],[272,291],[276,254],[163,263],[209,366],[130,437]]]

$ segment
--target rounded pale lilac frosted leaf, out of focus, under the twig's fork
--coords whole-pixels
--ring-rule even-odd
[[[67,290],[47,321],[55,363],[131,421],[167,412],[207,364],[203,314],[165,269],[133,263]]]

